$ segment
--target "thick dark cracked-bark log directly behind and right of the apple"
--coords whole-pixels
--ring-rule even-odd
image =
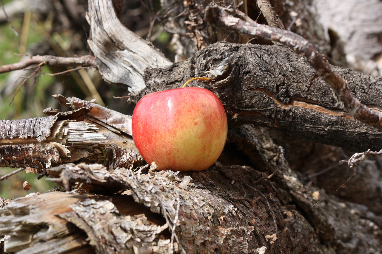
[[[379,130],[343,112],[316,71],[301,56],[279,45],[216,43],[169,68],[148,69],[140,96],[180,87],[189,77],[204,76],[206,71],[227,65],[228,71],[215,77],[219,87],[212,90],[225,104],[231,127],[253,123],[351,151],[379,151],[382,147]],[[348,80],[362,103],[382,107],[381,77],[333,68]]]

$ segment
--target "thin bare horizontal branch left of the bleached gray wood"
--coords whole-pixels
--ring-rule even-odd
[[[0,66],[0,73],[15,71],[27,68],[32,65],[47,65],[47,66],[78,66],[96,67],[94,56],[79,56],[79,57],[61,57],[61,56],[31,56],[31,58],[19,63],[7,64]]]

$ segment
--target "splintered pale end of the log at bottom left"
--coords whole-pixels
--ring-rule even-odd
[[[99,253],[126,253],[124,249],[133,249],[136,238],[146,242],[146,248],[138,248],[141,251],[156,252],[165,246],[168,250],[170,246],[169,240],[159,239],[167,229],[165,221],[134,203],[131,196],[110,199],[49,192],[19,198],[0,213],[0,232],[12,239],[6,243],[7,252],[94,253],[97,249]],[[15,217],[22,226],[13,222]]]

